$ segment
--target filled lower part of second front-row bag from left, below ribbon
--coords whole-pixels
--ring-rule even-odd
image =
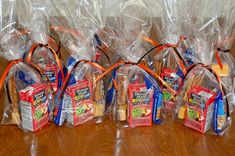
[[[100,123],[105,113],[103,81],[95,82],[102,72],[88,64],[79,65],[71,74],[56,124],[66,120],[72,126]]]

